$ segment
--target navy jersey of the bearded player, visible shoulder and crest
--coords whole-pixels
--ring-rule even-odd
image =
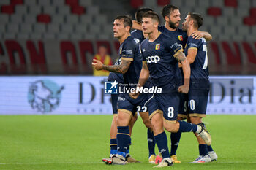
[[[187,42],[187,32],[182,31],[182,29],[177,28],[176,31],[170,31],[165,28],[165,26],[158,26],[158,30],[167,36],[170,36],[174,42],[177,42],[179,45],[182,45],[182,48],[185,47]]]

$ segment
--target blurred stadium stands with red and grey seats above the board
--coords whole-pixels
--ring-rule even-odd
[[[255,74],[255,0],[1,0],[0,74],[92,74],[99,45],[116,59],[116,15],[169,3],[203,15],[211,74]]]

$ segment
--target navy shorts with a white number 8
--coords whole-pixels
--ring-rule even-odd
[[[149,118],[157,112],[162,113],[165,120],[173,122],[178,116],[179,93],[154,94],[148,101]]]

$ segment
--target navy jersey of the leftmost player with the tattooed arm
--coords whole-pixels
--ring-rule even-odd
[[[142,68],[142,55],[140,52],[140,42],[138,39],[128,36],[127,39],[119,47],[119,60],[132,61],[129,65],[129,69],[124,73],[124,83],[128,84],[130,87],[137,85],[140,70]]]

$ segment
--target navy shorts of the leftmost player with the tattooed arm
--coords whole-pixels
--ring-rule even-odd
[[[148,112],[146,101],[148,101],[148,94],[140,94],[138,98],[132,99],[129,94],[124,93],[118,96],[117,108],[130,115],[135,115],[138,112]]]

